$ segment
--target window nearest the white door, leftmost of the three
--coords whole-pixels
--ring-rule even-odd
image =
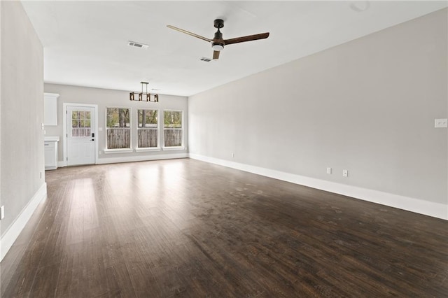
[[[129,108],[106,108],[107,149],[131,148]]]

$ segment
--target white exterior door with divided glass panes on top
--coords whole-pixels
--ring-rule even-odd
[[[67,106],[67,165],[95,163],[95,108]]]

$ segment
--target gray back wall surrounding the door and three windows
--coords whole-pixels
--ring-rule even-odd
[[[137,82],[137,90],[139,90],[139,82]],[[136,90],[136,91],[137,91]],[[124,107],[131,108],[132,123],[136,123],[137,108],[155,108],[159,109],[160,114],[164,109],[183,110],[183,125],[184,125],[184,143],[187,147],[188,144],[188,103],[187,97],[177,97],[173,95],[159,95],[159,102],[145,102],[145,101],[130,101],[129,92],[120,90],[107,90],[91,87],[77,87],[69,85],[57,85],[57,84],[45,84],[45,92],[57,93],[59,98],[57,99],[57,127],[45,126],[45,136],[59,136],[59,161],[63,159],[63,103],[70,104],[97,104],[98,105],[98,127],[102,127],[103,131],[98,132],[98,155],[99,162],[101,159],[120,159],[130,157],[157,157],[158,155],[176,155],[180,152],[186,153],[185,150],[160,150],[156,152],[132,152],[132,153],[113,153],[104,154],[106,148],[106,107]],[[160,123],[162,123],[162,115],[160,115]],[[162,129],[162,125],[160,126]],[[137,144],[137,130],[131,129],[132,148]],[[162,146],[162,144],[160,144]]]

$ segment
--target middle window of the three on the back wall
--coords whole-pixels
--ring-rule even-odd
[[[137,110],[137,147],[158,148],[158,111]]]

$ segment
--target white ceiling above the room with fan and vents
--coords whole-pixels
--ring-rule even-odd
[[[48,83],[190,96],[447,7],[447,1],[22,1],[44,47]],[[213,38],[270,32],[267,39],[211,45]],[[132,48],[127,41],[149,45]]]

